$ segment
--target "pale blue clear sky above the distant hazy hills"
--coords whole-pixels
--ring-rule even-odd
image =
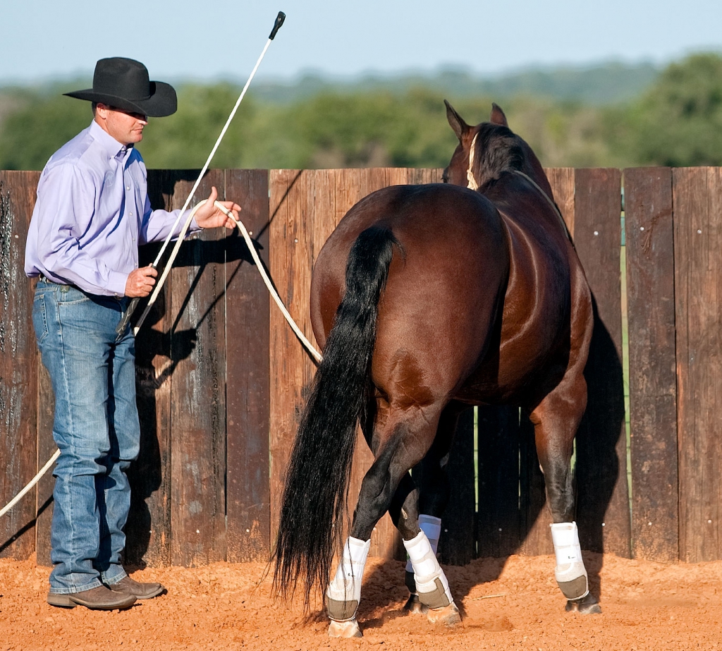
[[[2,0],[0,83],[90,81],[105,56],[139,59],[152,79],[243,82],[279,10],[287,20],[258,78],[500,74],[722,51],[722,0]]]

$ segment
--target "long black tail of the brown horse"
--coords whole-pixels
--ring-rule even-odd
[[[349,475],[356,426],[365,418],[378,301],[393,245],[388,228],[364,230],[346,265],[346,293],[323,349],[301,417],[283,492],[274,552],[274,591],[287,598],[303,577],[305,604],[326,590],[334,549],[348,522]]]

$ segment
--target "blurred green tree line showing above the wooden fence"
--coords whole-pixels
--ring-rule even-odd
[[[0,169],[42,169],[58,147],[90,124],[90,103],[66,98],[63,90],[5,94]],[[230,84],[178,85],[178,112],[151,119],[139,145],[148,167],[200,168],[239,92]],[[512,129],[549,167],[722,165],[718,53],[677,61],[640,95],[614,105],[521,92],[457,100],[421,84],[401,90],[323,87],[290,102],[249,92],[212,165],[443,167],[456,147],[444,98],[470,124],[488,118],[492,101],[500,104]]]

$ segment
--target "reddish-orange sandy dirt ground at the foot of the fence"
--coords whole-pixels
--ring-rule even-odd
[[[0,651],[31,650],[721,650],[722,561],[663,565],[585,553],[601,615],[565,612],[554,557],[480,559],[445,571],[464,617],[449,631],[404,616],[404,564],[370,559],[362,639],[329,639],[321,611],[274,603],[261,563],[148,568],[168,594],[129,611],[53,608],[48,569],[0,560]]]

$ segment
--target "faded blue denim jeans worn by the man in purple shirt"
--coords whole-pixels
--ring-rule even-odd
[[[121,553],[140,425],[131,329],[116,343],[129,299],[38,280],[35,337],[55,393],[56,464],[51,592],[90,590],[126,576]]]

